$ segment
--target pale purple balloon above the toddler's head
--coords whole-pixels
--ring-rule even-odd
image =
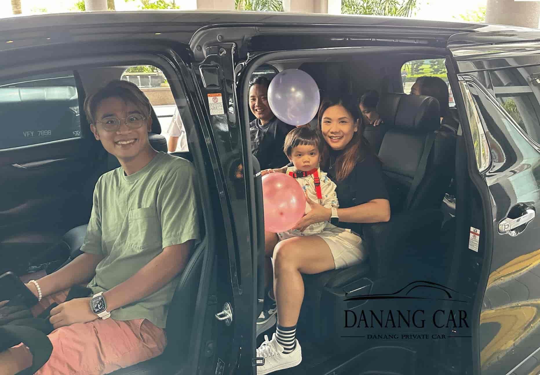
[[[270,109],[278,119],[289,125],[302,126],[313,120],[320,100],[315,80],[298,69],[280,72],[268,87]]]

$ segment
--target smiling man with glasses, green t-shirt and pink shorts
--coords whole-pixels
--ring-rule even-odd
[[[53,345],[45,374],[106,374],[158,356],[166,346],[167,308],[200,239],[193,165],[154,150],[150,101],[127,81],[86,99],[93,135],[120,167],[96,184],[82,255],[26,284],[51,310]],[[64,302],[87,282],[92,293]],[[181,318],[181,317],[179,317]],[[0,374],[32,364],[24,345],[0,353]]]

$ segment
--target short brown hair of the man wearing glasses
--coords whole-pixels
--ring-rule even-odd
[[[95,116],[99,103],[109,98],[120,98],[126,102],[133,103],[146,118],[150,117],[152,105],[140,88],[129,81],[115,79],[85,99],[84,112],[91,124],[96,123]]]

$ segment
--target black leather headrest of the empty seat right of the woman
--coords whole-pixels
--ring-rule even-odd
[[[377,112],[390,129],[428,133],[441,127],[439,103],[431,96],[385,94]]]

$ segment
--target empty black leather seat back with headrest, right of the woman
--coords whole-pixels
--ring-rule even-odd
[[[386,125],[379,158],[387,176],[393,212],[438,207],[450,184],[455,140],[440,130],[438,101],[431,96],[386,94],[380,100]],[[419,169],[429,134],[435,141],[429,150],[426,170],[413,199],[406,204],[411,184]]]

